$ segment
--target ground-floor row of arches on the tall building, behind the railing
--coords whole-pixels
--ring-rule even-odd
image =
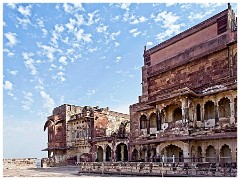
[[[217,150],[213,145],[207,146],[204,149],[201,146],[193,146],[191,152],[186,151],[182,147],[175,144],[169,144],[165,146],[160,154],[156,153],[156,149],[153,148],[149,153],[145,153],[145,150],[133,149],[131,160],[132,161],[161,161],[161,162],[210,162],[210,163],[230,163],[233,161],[231,148],[224,144],[220,148],[220,153],[217,154]],[[190,155],[190,156],[189,156]],[[174,160],[173,160],[174,157]]]

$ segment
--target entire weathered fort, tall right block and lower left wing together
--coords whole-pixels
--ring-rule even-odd
[[[44,125],[49,163],[236,162],[237,20],[215,16],[144,48],[130,116],[64,104]]]

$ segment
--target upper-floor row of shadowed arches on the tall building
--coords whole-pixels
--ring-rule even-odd
[[[204,103],[203,107],[201,107],[200,103],[197,103],[195,107],[190,106],[192,108],[191,113],[195,112],[194,114],[196,114],[196,118],[194,119],[196,119],[196,121],[230,118],[230,103],[230,99],[227,97],[221,98],[217,105],[212,100],[208,100]],[[160,112],[152,112],[150,116],[142,114],[140,116],[140,129],[157,128],[159,130],[161,129],[162,123],[183,120],[184,116],[191,117],[188,113],[189,110],[183,111],[180,104],[171,104],[166,106]],[[234,117],[237,117],[237,98],[234,99]]]

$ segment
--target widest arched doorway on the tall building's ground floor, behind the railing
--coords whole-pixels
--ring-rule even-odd
[[[170,144],[162,150],[161,154],[167,157],[167,160],[165,160],[167,162],[172,162],[173,155],[175,156],[175,162],[183,162],[183,150],[178,146]]]

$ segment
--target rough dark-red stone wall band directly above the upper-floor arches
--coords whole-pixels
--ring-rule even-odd
[[[236,45],[234,52],[236,52]],[[234,60],[236,61],[236,59]],[[234,75],[236,62],[233,63]],[[179,66],[170,71],[160,73],[148,79],[149,100],[154,96],[162,95],[172,90],[189,87],[193,91],[202,91],[204,88],[219,85],[229,78],[228,49],[205,56],[199,60]],[[236,79],[236,77],[235,77]]]

